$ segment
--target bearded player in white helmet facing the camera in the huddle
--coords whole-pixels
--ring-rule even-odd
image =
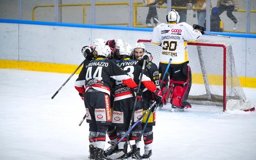
[[[134,59],[145,58],[148,59],[148,63],[146,65],[146,75],[150,78],[150,80],[156,85],[159,89],[159,71],[158,67],[155,63],[152,62],[153,57],[148,52],[145,52],[145,45],[143,43],[136,43],[133,47],[133,57]],[[144,86],[142,86],[142,98],[143,98],[143,112],[145,112],[150,105],[150,100],[152,100],[152,92],[147,90]],[[157,107],[157,106],[154,106]],[[143,132],[143,141],[144,141],[144,150],[145,153],[142,155],[143,159],[150,159],[152,154],[152,143],[153,143],[153,126],[156,124],[156,108],[151,109],[151,114],[147,114],[143,117],[142,129],[145,130]],[[148,117],[149,116],[149,117]],[[148,119],[148,122],[147,121]]]

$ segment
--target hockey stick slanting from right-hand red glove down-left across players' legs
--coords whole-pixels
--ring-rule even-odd
[[[108,149],[106,149],[106,151],[105,151],[106,155],[109,155],[117,147],[118,143],[121,142],[127,135],[129,135],[131,130],[140,122],[140,120],[148,113],[148,111],[153,108],[154,105],[156,105],[156,101],[153,101],[153,103],[151,104],[151,106],[149,106],[149,108],[145,111],[145,113],[143,113],[141,115],[141,117],[130,127],[130,129],[123,135],[123,137],[116,142],[116,144],[114,146],[110,146]],[[125,153],[123,151],[121,151],[115,155],[108,156],[108,158],[116,159],[124,154]]]

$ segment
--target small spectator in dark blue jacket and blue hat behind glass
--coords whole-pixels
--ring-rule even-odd
[[[204,22],[204,27],[206,26],[206,20]],[[213,7],[211,13],[211,31],[223,31],[223,23],[220,20],[219,8]]]

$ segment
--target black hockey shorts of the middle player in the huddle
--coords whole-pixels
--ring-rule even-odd
[[[142,115],[142,100],[137,101],[135,106],[133,122],[136,122]],[[126,98],[114,101],[112,125],[119,127],[127,127],[130,124],[132,110],[134,106],[134,98]]]

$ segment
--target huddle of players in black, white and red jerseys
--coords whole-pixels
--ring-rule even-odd
[[[156,104],[162,101],[162,91],[157,87],[158,68],[151,62],[150,53],[145,51],[143,43],[136,43],[132,47],[124,39],[106,42],[98,38],[91,47],[83,47],[86,61],[75,87],[86,107],[90,159],[147,159],[151,156],[155,109]],[[149,106],[152,107],[149,115],[151,118],[145,131],[142,133],[143,123],[140,121],[122,139],[131,124],[137,122],[143,110]],[[110,155],[103,151],[106,133],[113,145],[122,139]],[[145,139],[145,153],[142,156],[139,146],[141,134]],[[129,140],[134,140],[135,145],[127,153]]]

